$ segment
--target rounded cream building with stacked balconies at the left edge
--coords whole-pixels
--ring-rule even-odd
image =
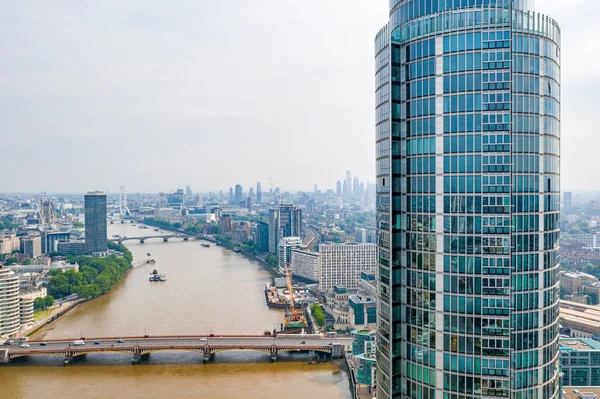
[[[13,336],[21,326],[19,278],[0,266],[0,336]]]

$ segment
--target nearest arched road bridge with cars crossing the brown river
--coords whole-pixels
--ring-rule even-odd
[[[76,345],[77,341],[84,342]],[[67,365],[91,353],[123,353],[131,356],[132,364],[147,358],[153,352],[188,351],[202,355],[207,363],[215,354],[224,351],[251,350],[265,352],[272,362],[279,353],[307,352],[311,356],[324,353],[331,358],[340,357],[352,345],[349,337],[325,337],[316,334],[265,335],[197,335],[197,336],[141,336],[80,338],[77,341],[58,339],[27,342],[27,346],[13,343],[0,349],[0,363],[24,356],[60,356]]]

